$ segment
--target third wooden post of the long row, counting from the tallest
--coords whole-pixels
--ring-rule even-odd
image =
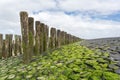
[[[40,54],[40,21],[35,22],[35,29],[36,29],[36,35],[35,35],[35,55]]]

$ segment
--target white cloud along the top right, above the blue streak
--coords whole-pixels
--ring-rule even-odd
[[[60,0],[60,8],[65,11],[94,11],[111,14],[120,10],[120,0]]]

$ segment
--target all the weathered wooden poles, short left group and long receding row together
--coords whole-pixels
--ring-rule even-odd
[[[34,21],[33,17],[28,17],[28,13],[25,11],[20,12],[20,23],[22,37],[15,35],[13,40],[13,35],[7,34],[3,39],[3,35],[0,34],[0,58],[22,54],[23,62],[29,63],[33,56],[80,41],[80,38],[65,31],[53,27],[49,30],[49,27],[44,23]]]

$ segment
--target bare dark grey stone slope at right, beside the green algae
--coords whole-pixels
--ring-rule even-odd
[[[117,62],[114,65],[109,65],[109,67],[111,67],[112,69],[114,69],[114,67],[119,67],[120,69],[120,37],[84,40],[82,44],[83,46],[89,47],[90,49],[93,49],[93,50],[97,49],[102,53],[104,52],[110,53],[109,58],[106,58],[103,56],[102,58],[104,58],[105,60],[109,62],[111,61]]]

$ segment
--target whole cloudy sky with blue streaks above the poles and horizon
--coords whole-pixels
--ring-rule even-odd
[[[120,0],[0,0],[0,33],[21,34],[20,11],[83,39],[120,37]]]

